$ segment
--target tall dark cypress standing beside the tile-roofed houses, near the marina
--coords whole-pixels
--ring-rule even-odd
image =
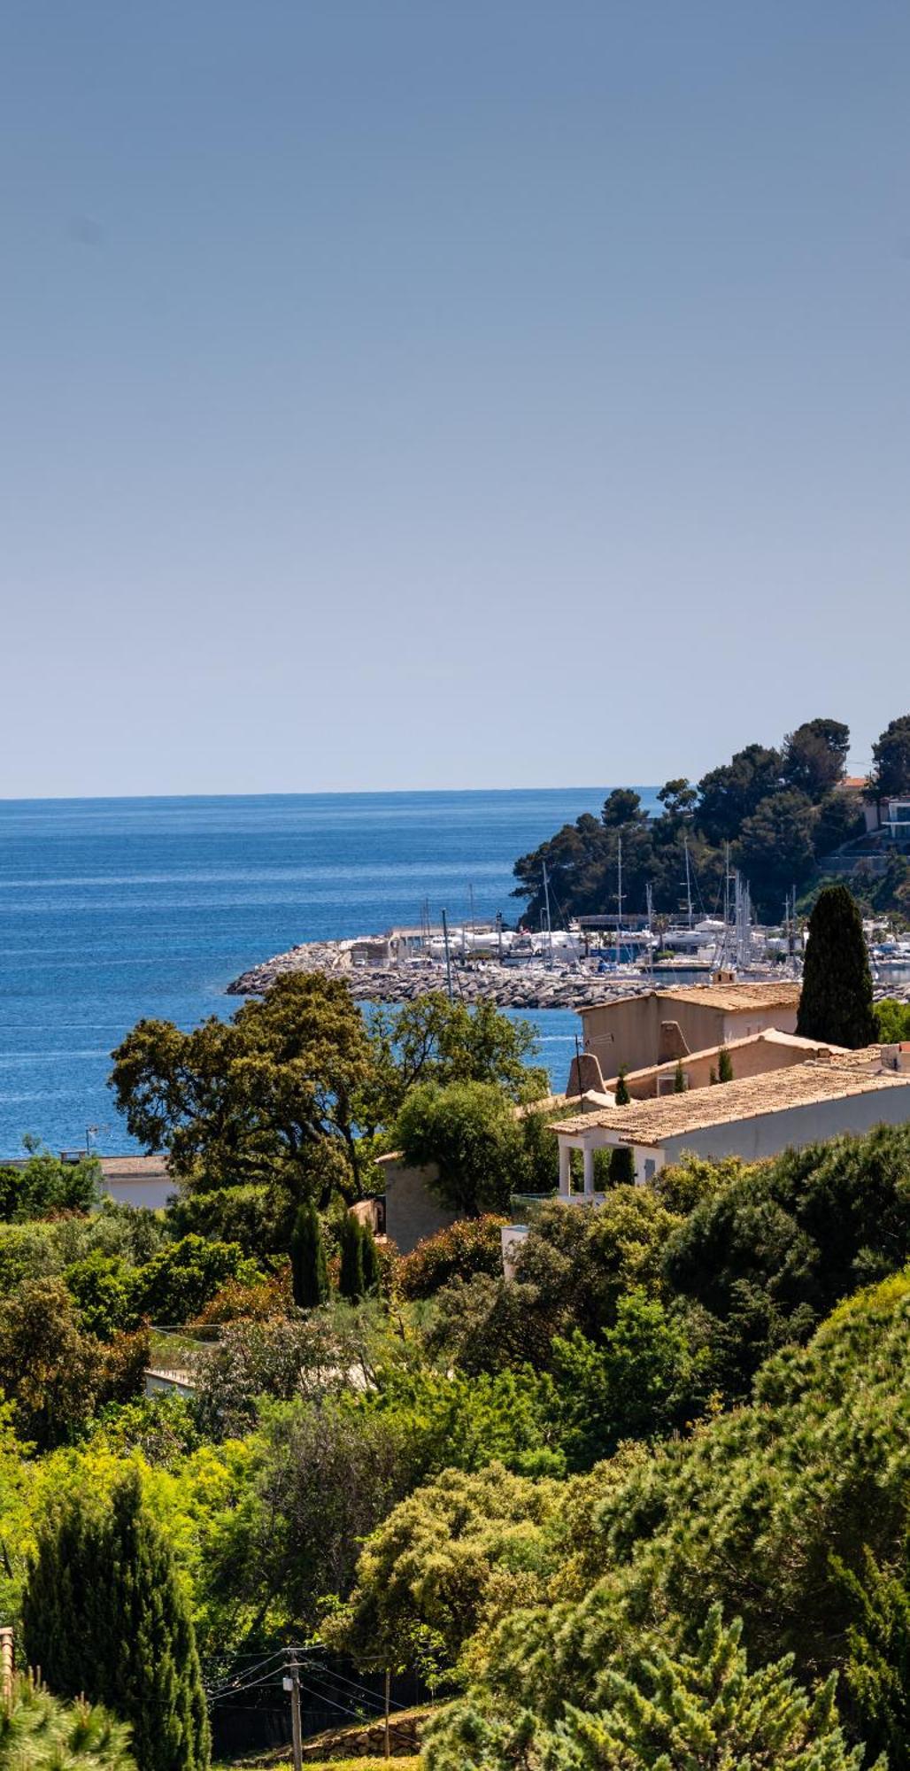
[[[876,1038],[866,937],[846,886],[825,886],[809,917],[797,1032],[853,1050]]]

